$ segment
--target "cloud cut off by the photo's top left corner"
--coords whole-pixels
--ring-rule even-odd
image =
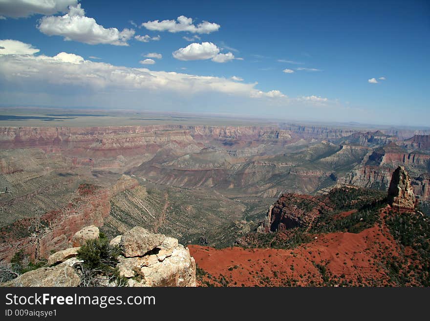
[[[67,12],[67,7],[76,6],[78,0],[0,0],[0,15],[12,18],[34,14],[52,15]]]

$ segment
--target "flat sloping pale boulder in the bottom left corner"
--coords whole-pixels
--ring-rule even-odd
[[[26,272],[2,286],[78,286],[81,278],[67,263]]]

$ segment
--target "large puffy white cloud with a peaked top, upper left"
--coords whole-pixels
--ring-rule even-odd
[[[40,20],[38,29],[48,36],[63,36],[64,40],[74,40],[88,44],[113,44],[127,46],[127,41],[134,35],[133,29],[106,29],[93,18],[85,16],[85,10],[79,3],[69,7],[64,16],[48,16]]]

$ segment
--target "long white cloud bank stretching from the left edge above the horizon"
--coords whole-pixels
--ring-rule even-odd
[[[3,43],[5,52],[12,52],[9,43]],[[32,48],[29,44],[23,47]],[[246,84],[213,76],[186,73],[152,71],[147,68],[129,68],[107,63],[84,60],[81,56],[59,53],[54,57],[44,55],[0,55],[0,83],[25,83],[81,87],[94,92],[104,89],[137,90],[156,93],[172,91],[178,94],[214,92],[248,98],[285,98],[278,90],[263,92],[255,88],[257,83]],[[22,83],[24,84],[24,83]]]

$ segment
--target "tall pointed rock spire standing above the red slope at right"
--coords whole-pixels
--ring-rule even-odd
[[[388,202],[395,208],[415,209],[415,195],[410,184],[409,174],[403,166],[399,166],[393,172],[388,188]]]

